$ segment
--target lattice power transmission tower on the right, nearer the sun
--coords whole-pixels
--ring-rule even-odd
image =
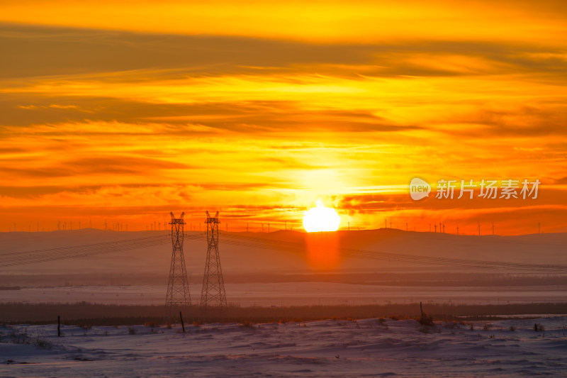
[[[218,211],[210,216],[207,211],[207,260],[201,290],[201,309],[227,306],[223,269],[218,255]]]

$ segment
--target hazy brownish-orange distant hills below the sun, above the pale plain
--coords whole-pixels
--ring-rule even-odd
[[[124,245],[128,243],[125,240],[146,239],[154,240],[153,244],[138,243],[135,248],[119,252],[108,247],[111,243]],[[53,255],[57,259],[72,250],[62,252],[61,248],[89,245],[105,245],[103,248],[110,248],[110,252],[97,255],[94,248],[94,255],[89,257],[33,263],[39,256]],[[279,230],[272,233],[221,231],[219,250],[223,271],[229,275],[394,271],[526,274],[540,272],[544,269],[541,266],[549,267],[548,271],[552,273],[553,267],[567,266],[566,245],[567,233],[456,236],[396,229],[336,233]],[[106,274],[120,277],[145,274],[162,277],[169,272],[171,250],[169,231],[114,232],[86,228],[47,233],[0,233],[2,262],[11,261],[15,255],[26,261],[26,265],[7,267],[0,262],[0,276]],[[187,233],[184,251],[188,271],[202,274],[206,257],[205,234]],[[556,271],[561,272],[561,269]]]

